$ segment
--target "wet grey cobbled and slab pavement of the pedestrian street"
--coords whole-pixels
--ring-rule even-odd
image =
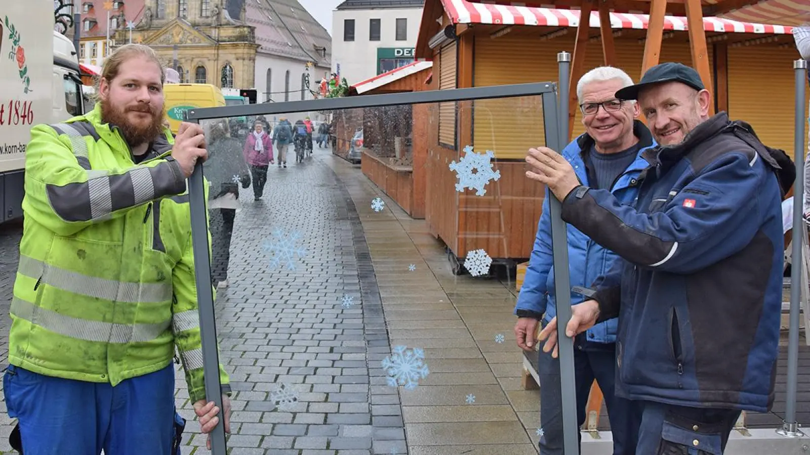
[[[521,388],[514,283],[454,276],[424,220],[317,147],[304,164],[271,166],[262,200],[242,189],[241,202],[216,303],[234,391],[229,453],[537,453],[539,393]],[[294,270],[271,265],[266,241],[292,233]],[[0,227],[3,363],[20,236]],[[415,387],[389,385],[386,358],[414,367],[400,385]],[[178,374],[177,406],[192,419],[184,382]],[[0,453],[12,426],[0,414]],[[182,453],[208,453],[195,430]]]

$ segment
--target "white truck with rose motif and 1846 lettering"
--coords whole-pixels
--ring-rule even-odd
[[[79,58],[53,25],[52,0],[0,8],[0,223],[23,215],[31,128],[84,112]]]

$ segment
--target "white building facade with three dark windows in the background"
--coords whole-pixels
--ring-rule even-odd
[[[345,19],[355,19],[354,41],[343,40]],[[380,19],[380,40],[369,40],[370,19]],[[407,40],[396,40],[396,19],[407,19]],[[332,12],[332,72],[340,66],[340,77],[349,85],[377,75],[378,48],[416,47],[422,20],[421,8],[337,10]],[[407,58],[407,57],[405,57]]]

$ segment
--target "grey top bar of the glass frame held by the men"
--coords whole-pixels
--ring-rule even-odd
[[[191,121],[211,118],[275,115],[280,113],[302,113],[331,111],[352,108],[374,108],[402,104],[444,103],[448,101],[488,100],[493,98],[514,98],[516,96],[538,96],[554,91],[554,83],[518,83],[495,85],[492,87],[454,88],[451,90],[409,91],[384,95],[343,96],[320,100],[288,101],[283,103],[244,104],[220,108],[196,108],[186,111]]]

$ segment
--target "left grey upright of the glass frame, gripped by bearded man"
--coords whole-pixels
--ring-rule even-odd
[[[222,385],[220,384],[220,353],[217,351],[216,344],[214,290],[211,287],[211,254],[208,249],[205,181],[203,180],[203,163],[199,161],[189,178],[189,202],[200,337],[203,339],[205,396],[207,401],[214,402],[220,408],[220,422],[211,432],[211,454],[225,455],[227,447],[225,446],[224,409],[222,408]]]

